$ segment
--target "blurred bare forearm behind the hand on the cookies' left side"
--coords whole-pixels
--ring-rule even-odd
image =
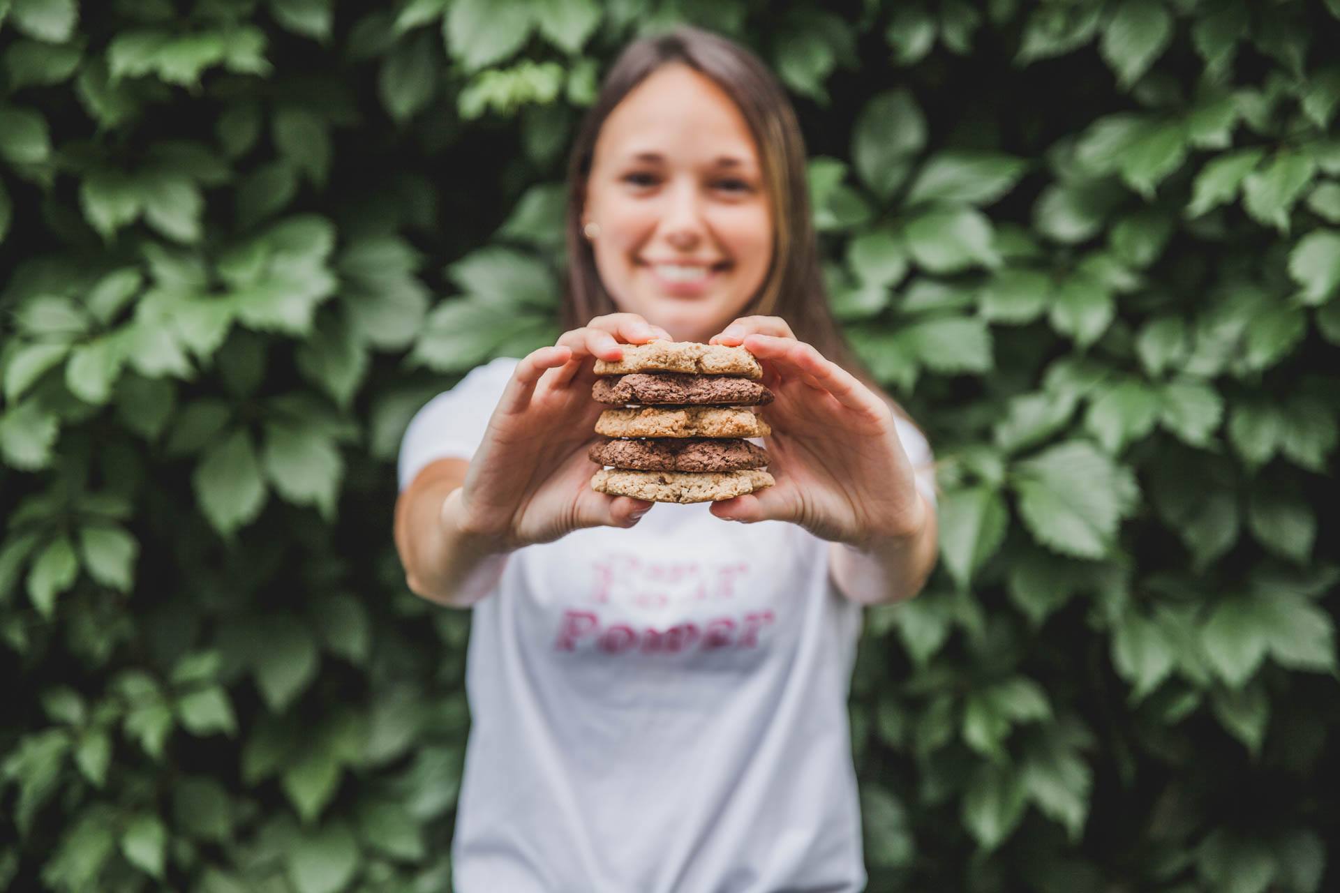
[[[507,565],[509,549],[496,537],[461,526],[461,487],[441,482],[415,494],[406,505],[397,544],[405,581],[423,598],[452,608],[469,608],[484,598]]]

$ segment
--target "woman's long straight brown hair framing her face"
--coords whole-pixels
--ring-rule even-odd
[[[797,339],[812,344],[825,357],[879,391],[828,309],[809,210],[805,142],[796,110],[758,56],[726,37],[691,25],[678,25],[624,47],[606,74],[595,104],[582,119],[568,158],[568,277],[563,327],[578,328],[596,316],[618,311],[600,281],[595,253],[582,233],[587,178],[596,137],[610,112],[634,87],[669,63],[683,63],[716,82],[740,107],[758,145],[764,183],[777,225],[773,228],[772,265],[741,316],[783,317]],[[899,415],[907,418],[896,402],[891,403]]]

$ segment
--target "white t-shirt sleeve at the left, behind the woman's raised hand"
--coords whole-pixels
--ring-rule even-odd
[[[438,394],[414,414],[401,440],[397,463],[401,490],[429,462],[474,455],[517,363],[500,356],[477,366],[456,387]]]

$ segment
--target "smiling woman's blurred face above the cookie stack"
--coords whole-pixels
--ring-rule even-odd
[[[772,262],[758,149],[712,79],[667,64],[623,98],[596,138],[583,224],[620,311],[675,340],[706,341],[740,316]]]

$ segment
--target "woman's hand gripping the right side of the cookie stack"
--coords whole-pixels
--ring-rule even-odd
[[[745,316],[709,344],[744,345],[776,399],[762,407],[772,427],[772,487],[722,499],[710,511],[729,521],[791,521],[831,542],[866,546],[922,529],[927,507],[884,399],[809,344],[777,316]]]

